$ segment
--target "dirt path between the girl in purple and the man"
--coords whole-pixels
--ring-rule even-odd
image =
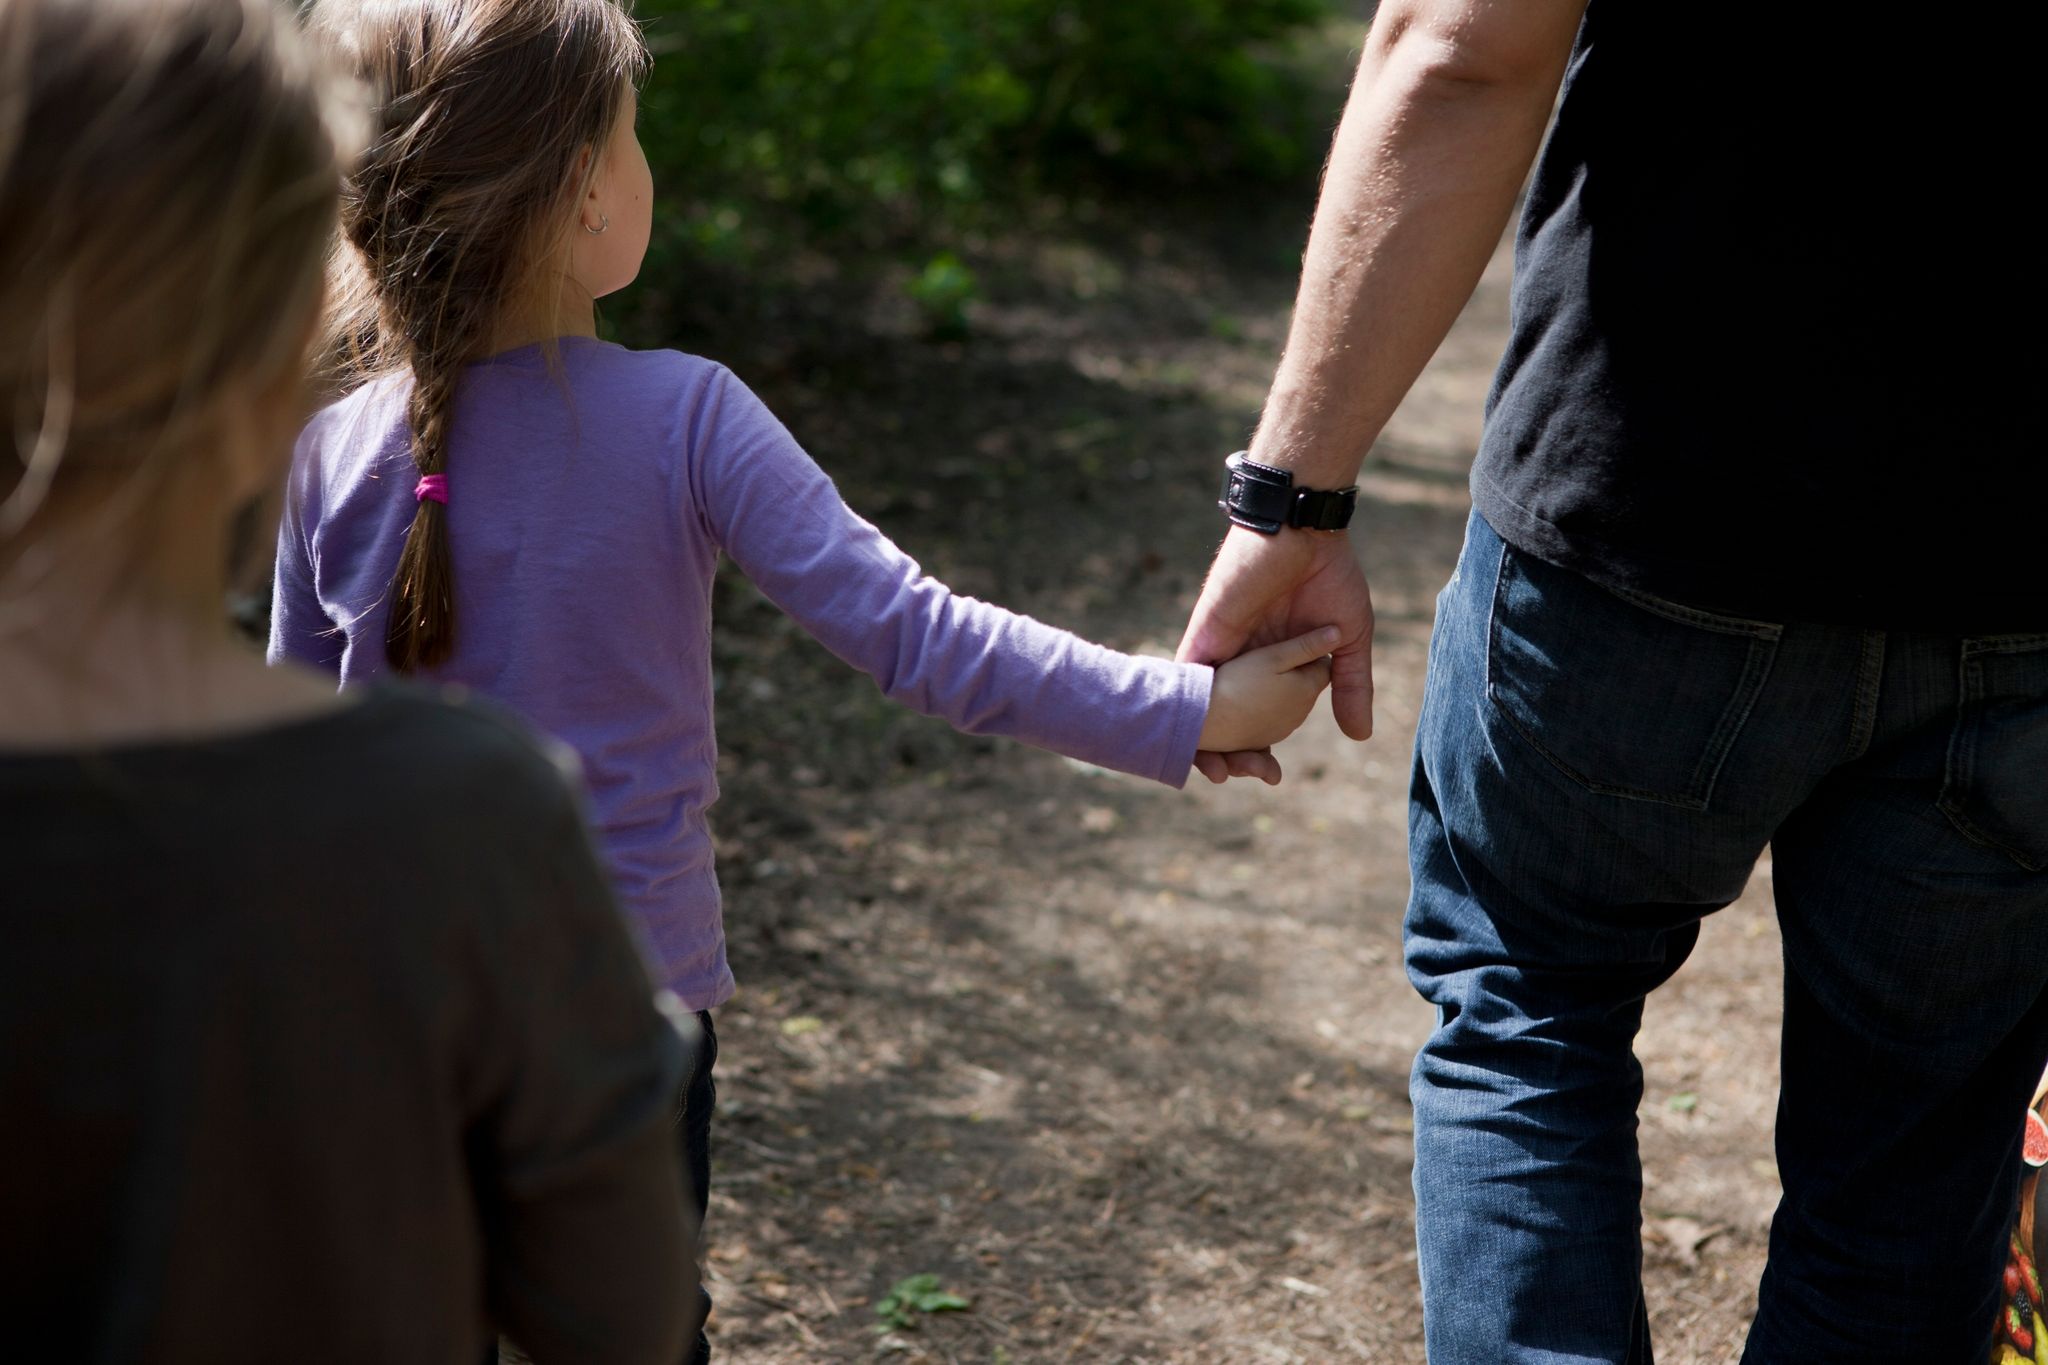
[[[883,309],[860,336],[713,350],[928,569],[1165,653],[1305,213],[989,248],[965,346],[891,336]],[[961,739],[721,585],[743,982],[719,1017],[723,1359],[1421,1359],[1403,790],[1507,276],[1503,252],[1366,479],[1378,737],[1319,716],[1280,790],[1174,794]],[[1753,1306],[1778,972],[1765,868],[1640,1040],[1651,1312],[1677,1365],[1735,1361]],[[879,1334],[915,1273],[973,1308]]]

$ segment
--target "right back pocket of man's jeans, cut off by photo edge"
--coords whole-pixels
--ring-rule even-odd
[[[1962,643],[1939,804],[1976,843],[2048,868],[2048,634]]]

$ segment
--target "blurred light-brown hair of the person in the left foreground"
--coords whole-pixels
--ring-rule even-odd
[[[338,108],[276,0],[0,0],[0,544],[74,479],[207,477],[303,372]]]

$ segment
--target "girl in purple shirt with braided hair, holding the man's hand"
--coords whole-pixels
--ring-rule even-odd
[[[612,0],[322,0],[375,92],[344,203],[334,342],[356,387],[299,440],[270,653],[342,681],[420,671],[584,757],[602,845],[657,974],[733,993],[717,798],[719,553],[881,688],[985,735],[1186,782],[1196,749],[1305,718],[1331,641],[1221,669],[1135,659],[952,596],[854,516],[725,368],[594,340],[653,188],[645,49]],[[698,1191],[711,1029],[686,1097]],[[702,1197],[702,1195],[698,1195]]]

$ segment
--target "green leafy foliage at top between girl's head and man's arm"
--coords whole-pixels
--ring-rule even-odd
[[[1321,151],[1270,59],[1329,0],[639,0],[641,137],[682,244],[932,235],[1073,176],[1284,178]]]

